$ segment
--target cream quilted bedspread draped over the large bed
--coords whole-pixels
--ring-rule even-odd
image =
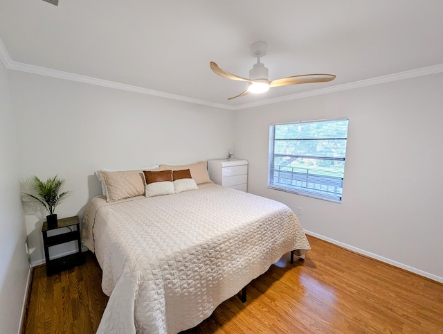
[[[192,328],[283,254],[310,249],[287,206],[215,184],[113,203],[96,197],[82,237],[110,296],[98,333]]]

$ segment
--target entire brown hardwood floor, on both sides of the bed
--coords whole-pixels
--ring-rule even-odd
[[[308,236],[190,333],[443,333],[443,285]],[[95,257],[61,274],[34,270],[24,333],[94,333],[107,304]]]

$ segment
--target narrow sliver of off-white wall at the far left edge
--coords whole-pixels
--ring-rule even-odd
[[[19,333],[30,272],[17,169],[8,73],[0,62],[0,333]]]

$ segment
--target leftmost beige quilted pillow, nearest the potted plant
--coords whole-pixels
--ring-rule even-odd
[[[141,170],[107,172],[98,170],[105,185],[106,201],[115,202],[123,198],[145,195],[145,178]]]

